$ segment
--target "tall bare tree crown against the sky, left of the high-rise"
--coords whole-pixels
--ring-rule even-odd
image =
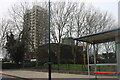
[[[23,29],[24,14],[27,9],[29,9],[28,2],[18,2],[9,8],[8,12],[10,15],[10,20],[13,23],[14,28],[20,33]]]

